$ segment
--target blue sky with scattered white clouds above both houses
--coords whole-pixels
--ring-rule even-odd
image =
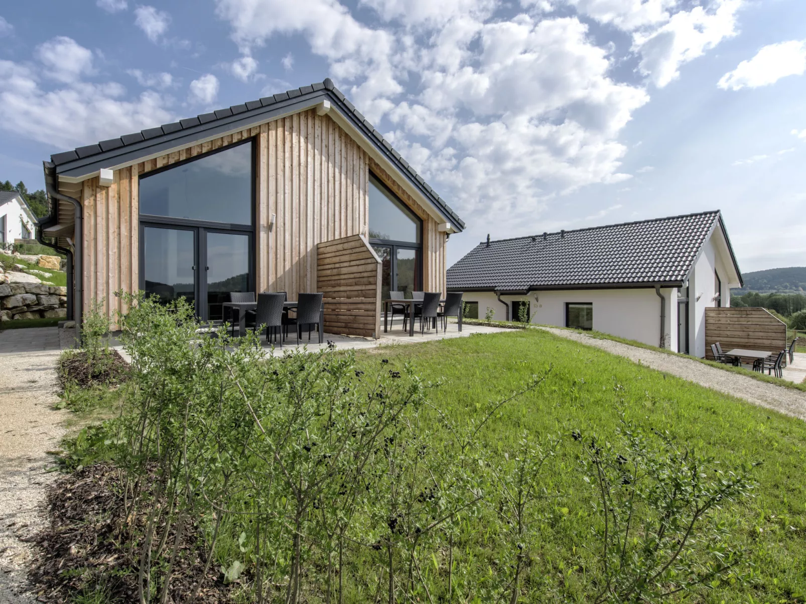
[[[804,265],[803,0],[15,2],[0,179],[331,77],[492,238],[721,209],[743,271]]]

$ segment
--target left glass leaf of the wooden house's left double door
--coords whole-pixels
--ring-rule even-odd
[[[198,296],[195,229],[143,227],[140,279],[143,290],[164,304]],[[197,309],[198,312],[198,309]]]

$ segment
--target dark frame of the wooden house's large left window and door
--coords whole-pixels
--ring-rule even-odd
[[[202,153],[201,155],[196,155],[189,159],[182,159],[179,162],[171,163],[168,166],[163,166],[162,168],[157,168],[156,170],[151,170],[146,172],[145,174],[141,174],[139,176],[139,180],[143,178],[147,178],[148,176],[153,176],[159,172],[165,172],[166,170],[170,170],[172,168],[179,168],[185,163],[193,162],[197,159],[203,159],[209,157],[210,155],[215,155],[216,153],[221,153],[222,151],[230,150],[234,147],[239,147],[240,145],[251,143],[251,176],[250,176],[250,184],[251,184],[251,225],[242,225],[242,224],[232,224],[227,222],[215,222],[215,221],[205,221],[205,220],[195,220],[190,218],[177,218],[177,217],[168,217],[168,216],[159,216],[155,214],[139,214],[139,241],[145,241],[145,231],[144,229],[149,228],[158,228],[158,229],[178,229],[178,230],[192,230],[193,231],[193,261],[194,266],[197,267],[197,270],[194,271],[194,297],[196,300],[196,315],[202,320],[206,321],[209,319],[208,317],[208,304],[207,304],[207,279],[206,279],[206,271],[205,271],[205,279],[201,278],[200,271],[202,267],[207,266],[207,233],[223,233],[223,234],[246,234],[249,237],[248,249],[249,249],[249,275],[247,277],[247,288],[251,292],[256,291],[256,275],[255,275],[255,266],[256,266],[256,242],[257,242],[257,227],[256,224],[256,217],[257,217],[257,203],[256,203],[256,196],[257,196],[257,182],[256,182],[256,170],[257,166],[257,137],[252,136],[248,139],[243,139],[243,141],[239,141],[238,143],[232,143],[231,145],[226,145],[225,147],[221,147],[220,149],[214,149],[214,151],[208,151],[207,153]],[[139,184],[138,180],[138,184]],[[138,196],[139,196],[139,187],[138,187]],[[138,207],[139,207],[139,198],[138,198]],[[139,246],[139,288],[141,290],[145,289],[145,250],[144,246]],[[203,304],[202,304],[203,301]]]

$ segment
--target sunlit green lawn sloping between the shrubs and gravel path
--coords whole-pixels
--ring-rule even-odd
[[[565,436],[579,429],[612,439],[618,412],[624,410],[629,420],[647,430],[667,430],[678,445],[696,448],[722,464],[762,461],[754,474],[759,483],[754,498],[718,513],[733,543],[750,551],[750,583],[721,582],[713,591],[673,601],[804,602],[804,422],[537,329],[359,354],[359,362],[367,365],[379,358],[397,366],[411,362],[426,379],[443,379],[431,400],[457,420],[480,416],[478,405],[516,391],[530,375],[552,366],[538,391],[502,407],[481,432],[482,444],[491,453],[512,451],[525,429],[535,435]],[[437,424],[434,417],[434,429]],[[576,445],[564,438],[546,473],[551,486],[563,493],[555,510],[567,511],[556,512],[543,532],[541,552],[530,569],[529,602],[582,602],[589,597],[585,585],[592,572],[588,546],[594,497],[578,470]],[[483,558],[484,527],[471,529],[457,548],[459,568]]]

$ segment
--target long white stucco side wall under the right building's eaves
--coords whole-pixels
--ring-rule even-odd
[[[671,325],[677,325],[675,302],[676,290],[662,289],[666,299],[667,346],[675,346],[676,335]],[[492,292],[465,292],[463,300],[479,303],[479,318],[484,318],[487,308],[495,311],[494,319],[503,321],[506,308]],[[660,340],[660,299],[654,289],[590,289],[530,292],[527,296],[501,296],[509,303],[513,300],[529,300],[532,322],[541,325],[565,326],[567,302],[590,302],[593,304],[593,329],[626,337],[645,344],[657,346]],[[510,317],[512,319],[512,317]]]

